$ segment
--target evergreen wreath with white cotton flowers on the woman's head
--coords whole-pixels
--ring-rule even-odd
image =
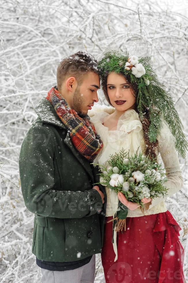
[[[165,90],[165,85],[159,82],[157,73],[151,64],[151,56],[137,57],[129,55],[127,48],[106,49],[98,62],[101,80],[110,72],[123,73],[130,77],[131,83],[137,83],[137,109],[140,120],[144,118],[145,109],[149,112],[150,142],[156,142],[166,120],[172,135],[175,137],[175,148],[183,158],[186,156],[188,143],[183,133],[183,125],[174,107],[172,94]]]

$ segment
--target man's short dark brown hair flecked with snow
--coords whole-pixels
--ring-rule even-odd
[[[85,51],[78,51],[63,59],[57,67],[57,89],[60,91],[63,81],[68,77],[75,77],[78,85],[82,85],[84,76],[88,72],[98,74],[97,60]]]

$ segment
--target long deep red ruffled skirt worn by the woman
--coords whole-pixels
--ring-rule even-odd
[[[105,223],[101,253],[106,283],[184,283],[181,228],[169,211],[127,217],[126,231],[117,233],[116,262],[112,223]]]

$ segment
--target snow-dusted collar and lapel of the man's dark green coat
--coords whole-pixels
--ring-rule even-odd
[[[43,97],[39,101],[39,103],[35,106],[35,112],[40,117],[42,122],[58,126],[61,129],[66,129],[65,125],[62,123],[62,121],[57,116],[57,113],[53,105],[46,99],[46,97]],[[64,143],[70,148],[74,156],[78,159],[78,161],[81,163],[84,169],[88,172],[89,176],[92,179],[92,182],[94,183],[93,172],[91,170],[90,162],[85,157],[83,157],[73,146],[68,131],[64,139]]]

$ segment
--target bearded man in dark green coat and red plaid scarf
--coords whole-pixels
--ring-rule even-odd
[[[87,112],[98,102],[97,62],[79,51],[63,59],[19,158],[26,207],[35,213],[32,253],[42,282],[94,282],[103,246],[106,194],[92,160],[103,144]],[[105,194],[105,195],[104,195]],[[105,202],[104,202],[105,200]]]

